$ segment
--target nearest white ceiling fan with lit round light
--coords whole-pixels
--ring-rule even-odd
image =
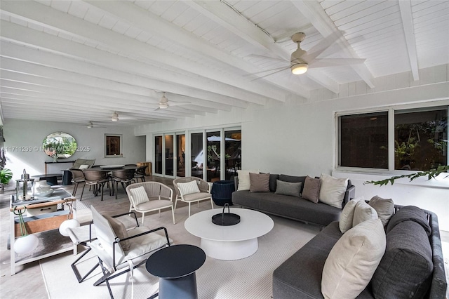
[[[265,70],[260,73],[270,72],[262,77],[257,77],[257,79],[276,74],[277,72],[282,72],[288,68],[291,69],[293,74],[304,74],[308,69],[316,67],[335,67],[340,65],[356,65],[365,62],[363,58],[317,58],[321,53],[326,51],[337,39],[340,38],[340,34],[330,34],[325,39],[320,41],[318,44],[310,48],[310,50],[304,51],[301,48],[301,42],[304,41],[306,34],[304,32],[297,32],[291,36],[292,41],[297,44],[297,49],[290,55],[290,65],[285,67],[279,67],[276,69]],[[280,60],[283,62],[288,62],[280,58],[272,58],[261,55],[253,55],[255,57],[266,58],[271,60]]]

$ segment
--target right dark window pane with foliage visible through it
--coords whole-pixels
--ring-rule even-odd
[[[394,114],[394,168],[428,171],[448,161],[448,110]]]

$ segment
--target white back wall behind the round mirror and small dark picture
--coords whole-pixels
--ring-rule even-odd
[[[45,161],[53,161],[44,152],[32,150],[22,152],[14,147],[41,147],[43,138],[53,132],[66,132],[72,135],[80,148],[90,150],[75,152],[67,160],[95,159],[95,165],[102,164],[135,164],[145,161],[145,136],[135,136],[132,126],[109,126],[107,128],[86,128],[76,124],[53,121],[24,121],[6,119],[4,121],[4,147],[6,150],[6,168],[13,173],[13,180],[20,179],[23,169],[30,175],[44,173]],[[122,134],[123,157],[105,158],[105,133]],[[63,159],[60,159],[63,161]],[[48,164],[48,173],[58,173],[71,164]]]

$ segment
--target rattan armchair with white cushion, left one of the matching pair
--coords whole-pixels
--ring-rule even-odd
[[[173,224],[175,224],[175,209],[173,208],[173,190],[161,182],[136,182],[126,187],[130,201],[129,211],[142,213],[142,224],[145,213],[171,208]]]

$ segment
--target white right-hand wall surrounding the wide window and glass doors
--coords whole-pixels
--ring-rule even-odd
[[[152,161],[153,134],[189,133],[196,128],[241,126],[242,167],[289,175],[333,174],[350,178],[356,195],[392,198],[397,204],[413,204],[434,211],[441,230],[449,231],[449,178],[431,186],[427,182],[404,182],[394,186],[364,185],[379,180],[379,174],[335,171],[335,113],[356,112],[374,107],[398,105],[449,105],[449,66],[420,70],[420,81],[410,74],[376,79],[376,88],[363,82],[340,87],[340,94],[318,90],[309,100],[270,102],[266,107],[206,114],[182,121],[136,128],[147,135],[147,160]],[[385,176],[387,178],[387,176]]]

